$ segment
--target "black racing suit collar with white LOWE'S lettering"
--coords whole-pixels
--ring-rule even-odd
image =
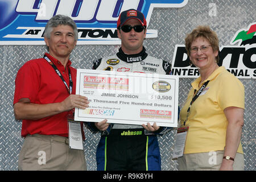
[[[137,53],[135,55],[127,55],[122,51],[122,47],[119,48],[119,52],[117,53],[117,57],[119,59],[125,61],[126,63],[134,63],[134,62],[139,62],[147,57],[146,49],[143,47],[142,51],[140,53]]]

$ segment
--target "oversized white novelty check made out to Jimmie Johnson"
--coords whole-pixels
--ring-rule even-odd
[[[90,103],[75,121],[177,127],[178,89],[177,76],[77,69],[76,94]]]

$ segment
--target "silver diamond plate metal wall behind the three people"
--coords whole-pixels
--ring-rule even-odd
[[[209,15],[209,3],[215,3],[216,16]],[[144,46],[150,55],[170,61],[175,44],[184,44],[184,37],[199,24],[209,24],[218,34],[220,46],[229,45],[237,30],[255,22],[255,0],[193,0],[179,9],[154,9],[148,29],[158,30],[158,38],[147,39]],[[92,61],[117,52],[119,46],[77,46],[71,60],[75,68],[92,66]],[[18,155],[23,143],[20,137],[22,123],[15,121],[13,114],[14,81],[18,69],[28,60],[42,57],[45,46],[0,46],[0,170],[17,170]],[[183,106],[192,78],[180,78],[179,105]],[[242,130],[242,145],[245,152],[245,169],[255,170],[255,79],[242,79],[245,86],[245,124]],[[176,131],[159,137],[162,155],[162,170],[177,170],[171,160]],[[85,129],[84,144],[88,170],[96,170],[96,146],[99,134]]]

